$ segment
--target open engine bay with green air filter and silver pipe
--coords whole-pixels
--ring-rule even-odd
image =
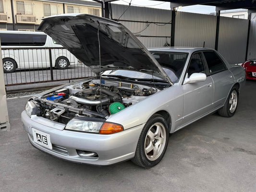
[[[156,92],[142,84],[94,79],[38,96],[34,103],[37,116],[67,124],[74,117],[107,119]]]

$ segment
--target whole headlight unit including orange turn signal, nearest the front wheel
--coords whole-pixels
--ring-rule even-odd
[[[112,134],[123,131],[122,125],[116,123],[85,120],[70,120],[65,129],[99,134]]]

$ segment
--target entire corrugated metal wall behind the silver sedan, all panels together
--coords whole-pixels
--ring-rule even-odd
[[[113,19],[119,19],[147,47],[163,47],[171,42],[171,11],[111,4]],[[127,11],[126,11],[127,9]],[[126,11],[126,12],[125,12]],[[123,12],[125,12],[123,14]],[[123,14],[123,15],[122,15]],[[122,17],[120,18],[120,16]],[[177,12],[177,47],[215,48],[217,16]],[[245,59],[248,20],[220,17],[218,51],[230,63]],[[256,22],[252,22],[248,57],[256,58]]]

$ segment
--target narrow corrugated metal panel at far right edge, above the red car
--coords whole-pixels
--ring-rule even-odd
[[[256,20],[251,20],[247,59],[256,58]]]

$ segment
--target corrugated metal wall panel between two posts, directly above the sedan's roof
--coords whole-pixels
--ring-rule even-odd
[[[177,12],[174,46],[215,48],[217,16]]]

